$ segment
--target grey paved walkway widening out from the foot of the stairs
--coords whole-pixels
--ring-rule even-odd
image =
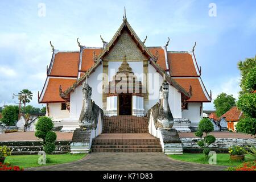
[[[26,170],[49,171],[217,171],[225,166],[180,162],[170,159],[163,153],[91,153],[85,158],[67,164],[57,164]]]

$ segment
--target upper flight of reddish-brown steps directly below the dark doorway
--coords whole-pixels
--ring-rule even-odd
[[[104,117],[103,133],[148,133],[147,117],[118,115]]]

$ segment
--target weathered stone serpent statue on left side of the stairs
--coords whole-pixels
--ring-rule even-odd
[[[82,110],[79,118],[81,129],[94,127],[94,115],[92,110],[92,88],[87,83],[87,78],[82,84]]]

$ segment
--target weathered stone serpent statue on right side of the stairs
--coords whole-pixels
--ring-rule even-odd
[[[168,96],[169,96],[169,84],[165,80],[162,86],[160,86],[160,107],[158,113],[158,122],[157,127],[171,129],[174,125],[174,117],[172,117],[172,113],[170,110],[170,106],[168,103]]]

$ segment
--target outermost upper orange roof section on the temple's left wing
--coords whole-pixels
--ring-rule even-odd
[[[77,76],[79,52],[56,53],[49,76]]]

